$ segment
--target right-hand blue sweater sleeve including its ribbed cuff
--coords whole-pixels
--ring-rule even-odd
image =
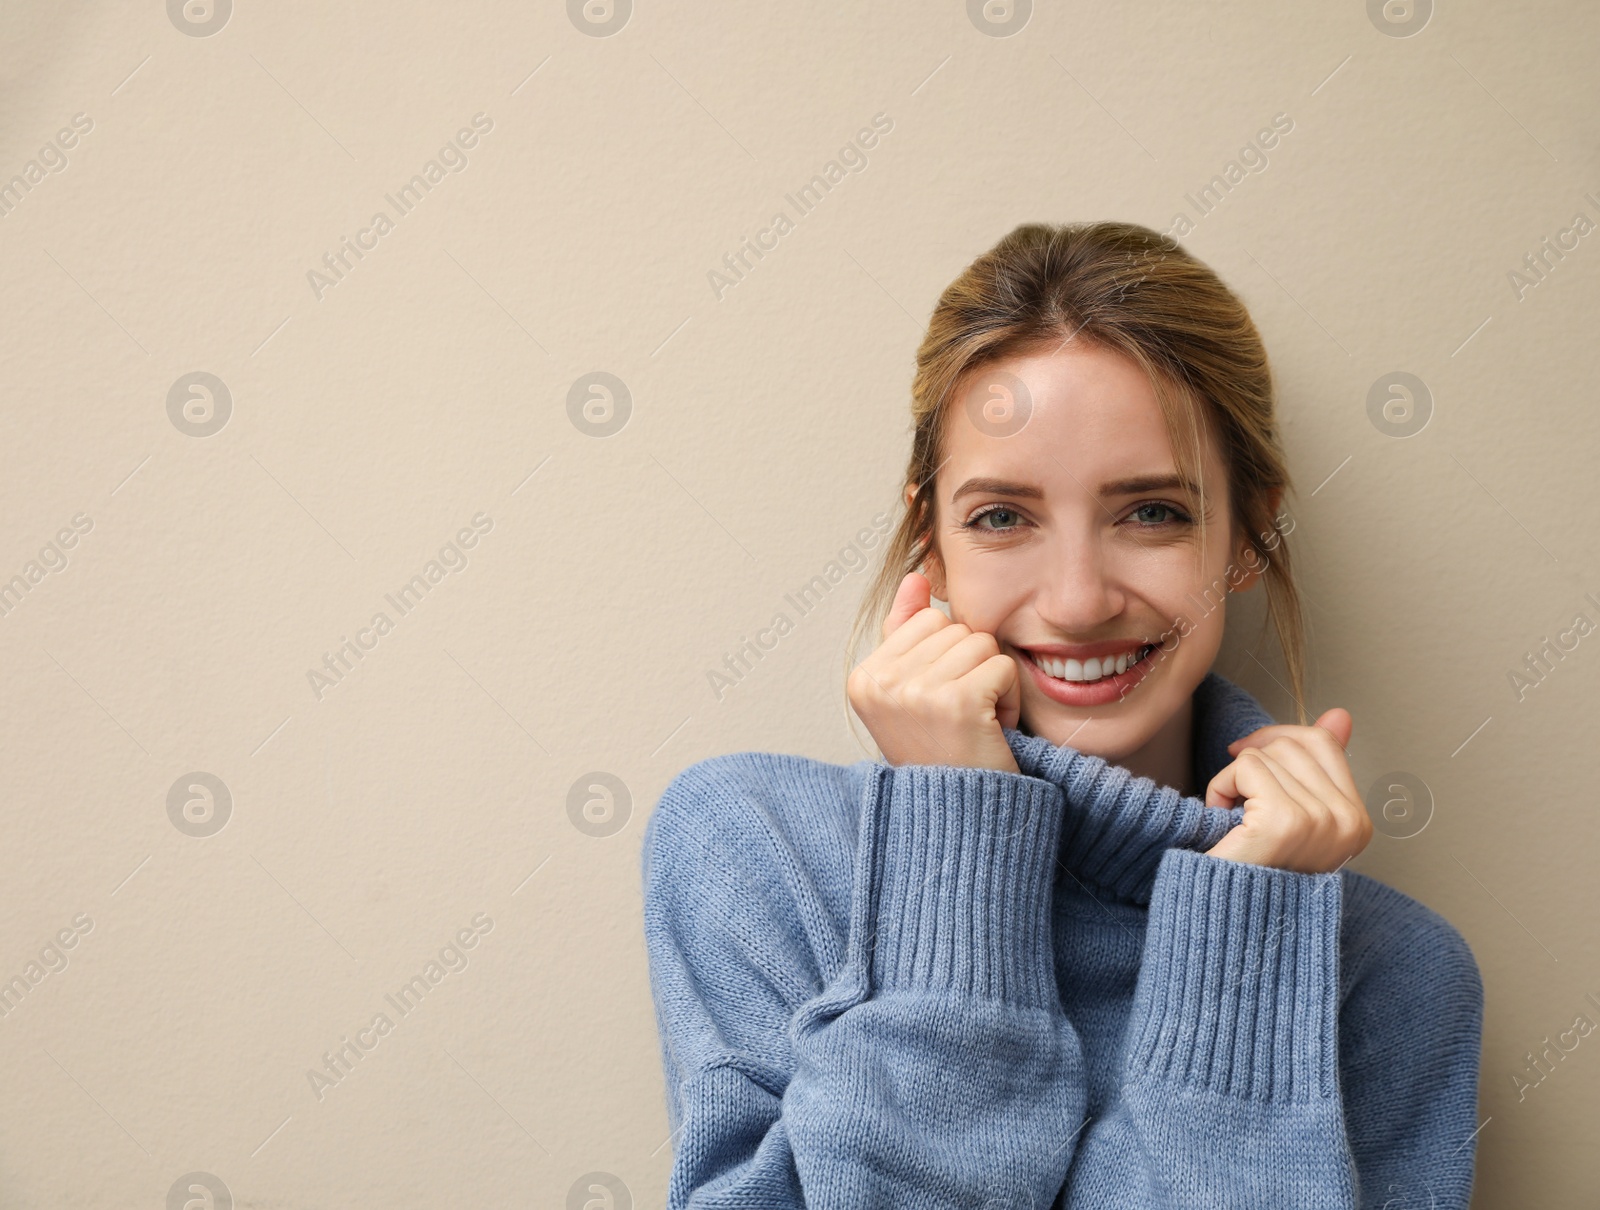
[[[1162,856],[1122,1082],[1067,1205],[1466,1207],[1477,994],[1446,949],[1341,1004],[1344,893],[1339,874]],[[1349,1087],[1344,1028],[1382,1039]]]

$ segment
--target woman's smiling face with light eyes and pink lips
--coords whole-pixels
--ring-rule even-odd
[[[1030,407],[1008,413],[1018,379]],[[1018,661],[1021,725],[1114,763],[1186,746],[1227,592],[1264,567],[1234,535],[1214,440],[1202,549],[1198,485],[1176,482],[1155,392],[1122,354],[1069,341],[984,365],[946,423],[926,573]]]

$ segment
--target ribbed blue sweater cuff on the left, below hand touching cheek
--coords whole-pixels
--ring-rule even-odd
[[[1050,914],[1061,789],[954,765],[885,765],[875,778],[856,922],[872,986],[1059,1007]]]

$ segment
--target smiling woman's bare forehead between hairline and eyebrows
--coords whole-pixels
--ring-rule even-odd
[[[1069,341],[981,365],[957,383],[938,483],[944,498],[976,474],[1093,491],[1174,466],[1155,387],[1138,363]],[[1221,471],[1206,442],[1203,479],[1218,482]]]

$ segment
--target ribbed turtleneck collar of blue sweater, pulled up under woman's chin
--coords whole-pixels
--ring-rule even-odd
[[[1194,691],[1194,765],[1205,786],[1232,757],[1227,746],[1275,722],[1248,691],[1206,672]],[[1206,850],[1245,818],[1243,807],[1206,807],[1122,765],[1006,728],[1018,768],[1061,786],[1061,866],[1096,893],[1149,904],[1168,848]],[[1059,877],[1058,871],[1058,877]]]

